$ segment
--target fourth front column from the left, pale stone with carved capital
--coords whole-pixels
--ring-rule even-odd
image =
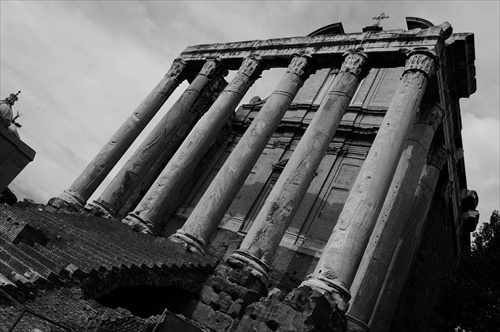
[[[184,226],[170,237],[203,252],[304,81],[314,71],[310,55],[296,55],[257,117],[210,184]]]

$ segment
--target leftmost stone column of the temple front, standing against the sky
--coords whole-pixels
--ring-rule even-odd
[[[187,74],[187,64],[181,59],[174,60],[163,79],[97,153],[75,182],[59,197],[51,198],[48,204],[56,208],[68,206],[83,208],[89,197]]]

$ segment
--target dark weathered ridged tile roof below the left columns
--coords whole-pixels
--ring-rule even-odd
[[[0,288],[17,297],[66,284],[94,299],[125,286],[196,291],[216,263],[116,220],[0,206]]]

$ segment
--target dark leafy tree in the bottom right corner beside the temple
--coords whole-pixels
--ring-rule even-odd
[[[434,328],[438,331],[490,332],[500,326],[500,217],[473,233],[472,250],[443,283]]]

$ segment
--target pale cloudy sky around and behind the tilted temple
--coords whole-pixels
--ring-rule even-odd
[[[468,189],[478,192],[481,221],[488,220],[500,205],[499,1],[2,0],[0,98],[22,91],[14,105],[19,134],[36,151],[9,188],[44,204],[68,188],[187,46],[305,36],[336,22],[359,32],[382,12],[389,16],[384,30],[406,29],[405,17],[413,16],[475,34],[477,91],[460,100],[462,137]],[[277,83],[266,79],[264,86]],[[270,91],[252,89],[243,102]]]

